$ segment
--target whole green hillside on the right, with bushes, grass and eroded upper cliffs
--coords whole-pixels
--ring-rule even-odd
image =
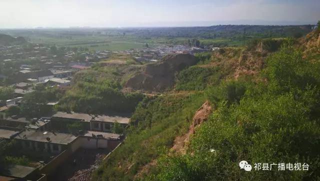
[[[319,179],[320,61],[292,40],[281,41],[281,47],[277,40],[257,41],[199,55],[196,65],[176,74],[172,91],[139,103],[127,138],[92,180]],[[216,109],[195,128],[186,153],[175,153],[173,140],[188,131],[205,100]],[[253,170],[241,170],[240,160]],[[259,162],[301,162],[309,169],[254,170]]]

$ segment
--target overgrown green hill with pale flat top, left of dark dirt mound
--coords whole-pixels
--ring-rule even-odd
[[[88,113],[131,113],[144,97],[138,92],[123,92],[123,84],[139,70],[127,56],[113,55],[90,69],[77,72],[72,87],[60,98],[55,108]]]

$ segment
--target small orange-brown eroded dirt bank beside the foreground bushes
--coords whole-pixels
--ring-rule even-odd
[[[192,123],[189,127],[189,131],[182,135],[175,137],[173,141],[172,150],[175,152],[185,153],[186,151],[186,145],[189,142],[190,135],[194,134],[195,127],[200,125],[202,122],[206,121],[209,117],[210,113],[212,112],[212,106],[210,105],[210,102],[207,100],[205,101],[200,108],[198,108],[193,115]]]

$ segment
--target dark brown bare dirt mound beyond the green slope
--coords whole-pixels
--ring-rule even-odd
[[[191,54],[168,55],[159,63],[143,66],[141,72],[131,77],[124,87],[149,92],[163,91],[173,85],[176,72],[195,63],[196,58]]]

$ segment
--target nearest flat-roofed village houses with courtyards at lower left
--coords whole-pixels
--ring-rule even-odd
[[[71,134],[67,125],[82,124],[83,130]],[[3,180],[9,178],[46,180],[57,166],[79,148],[113,150],[123,139],[123,135],[112,133],[112,126],[125,127],[128,117],[89,115],[75,112],[56,112],[51,117],[26,119],[24,117],[0,117],[0,138],[13,139],[17,149],[28,154],[43,155],[34,167],[11,165],[3,173]],[[4,179],[5,178],[5,179]]]

